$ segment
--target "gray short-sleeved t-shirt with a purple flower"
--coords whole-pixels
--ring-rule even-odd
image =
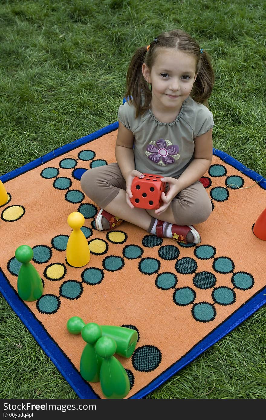
[[[194,139],[209,131],[213,115],[190,96],[172,123],[161,123],[148,109],[136,118],[134,105],[125,102],[118,110],[119,121],[134,134],[135,168],[178,178],[194,157]]]

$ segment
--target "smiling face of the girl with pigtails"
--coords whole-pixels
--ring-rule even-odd
[[[162,47],[151,70],[143,64],[142,74],[152,85],[153,107],[169,112],[179,110],[196,80],[196,60],[191,54]]]

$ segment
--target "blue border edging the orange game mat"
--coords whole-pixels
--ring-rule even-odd
[[[69,144],[66,144],[58,149],[47,153],[46,155],[33,160],[32,162],[27,163],[21,168],[18,168],[14,171],[6,173],[1,176],[0,179],[3,183],[6,181],[16,178],[16,176],[21,175],[31,169],[37,168],[43,163],[49,162],[54,157],[64,155],[66,152],[74,150],[76,147],[87,144],[92,140],[95,140],[104,134],[110,133],[118,128],[118,121],[112,123],[106,127],[103,127],[100,130],[95,131],[88,136],[84,136],[80,139],[75,140]],[[242,172],[245,176],[253,179],[258,183],[261,188],[266,189],[266,180],[263,176],[259,175],[255,171],[247,168],[245,165],[242,165],[234,157],[228,155],[227,153],[213,148],[213,155],[218,156],[225,163],[232,165],[238,171]],[[54,365],[58,368],[60,373],[68,381],[71,387],[74,389],[76,394],[80,399],[96,399],[99,398],[97,394],[92,390],[90,385],[84,381],[84,379],[79,374],[78,370],[74,367],[72,362],[68,359],[66,354],[60,349],[57,343],[52,339],[52,337],[47,333],[45,328],[42,326],[40,321],[35,317],[35,315],[28,309],[26,304],[18,297],[17,292],[8,282],[8,279],[5,277],[3,271],[0,269],[0,291],[5,297],[8,304],[16,312],[18,318],[26,325],[28,330],[34,336],[34,339],[40,344],[42,349],[45,351],[47,356],[52,360]],[[236,310],[232,315],[229,316],[223,323],[215,328],[211,333],[208,334],[202,341],[196,344],[187,354],[185,354],[179,361],[170,366],[163,373],[161,373],[158,378],[152,381],[149,385],[142,388],[136,394],[134,394],[132,399],[141,399],[144,398],[147,394],[153,391],[155,388],[160,386],[167,379],[171,378],[176,372],[186,366],[188,363],[195,360],[201,353],[210,348],[213,344],[219,341],[222,337],[232,331],[237,325],[240,325],[244,320],[246,320],[250,315],[256,312],[263,304],[266,303],[266,287],[258,291],[248,302],[242,305],[238,310]],[[145,373],[144,373],[145,374]]]

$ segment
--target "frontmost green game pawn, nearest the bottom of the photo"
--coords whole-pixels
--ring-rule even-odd
[[[103,357],[100,368],[100,386],[106,398],[124,398],[130,391],[129,378],[119,360],[113,356],[116,342],[104,336],[95,344],[96,353]]]

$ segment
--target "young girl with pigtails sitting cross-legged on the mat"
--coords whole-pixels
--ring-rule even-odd
[[[135,52],[126,77],[128,100],[118,113],[117,163],[90,169],[81,178],[84,193],[100,206],[98,230],[126,220],[160,237],[200,243],[193,225],[212,210],[198,180],[212,160],[213,115],[205,105],[213,83],[208,54],[181,30],[162,33]],[[143,173],[159,174],[166,182],[157,210],[130,202],[132,180]]]

